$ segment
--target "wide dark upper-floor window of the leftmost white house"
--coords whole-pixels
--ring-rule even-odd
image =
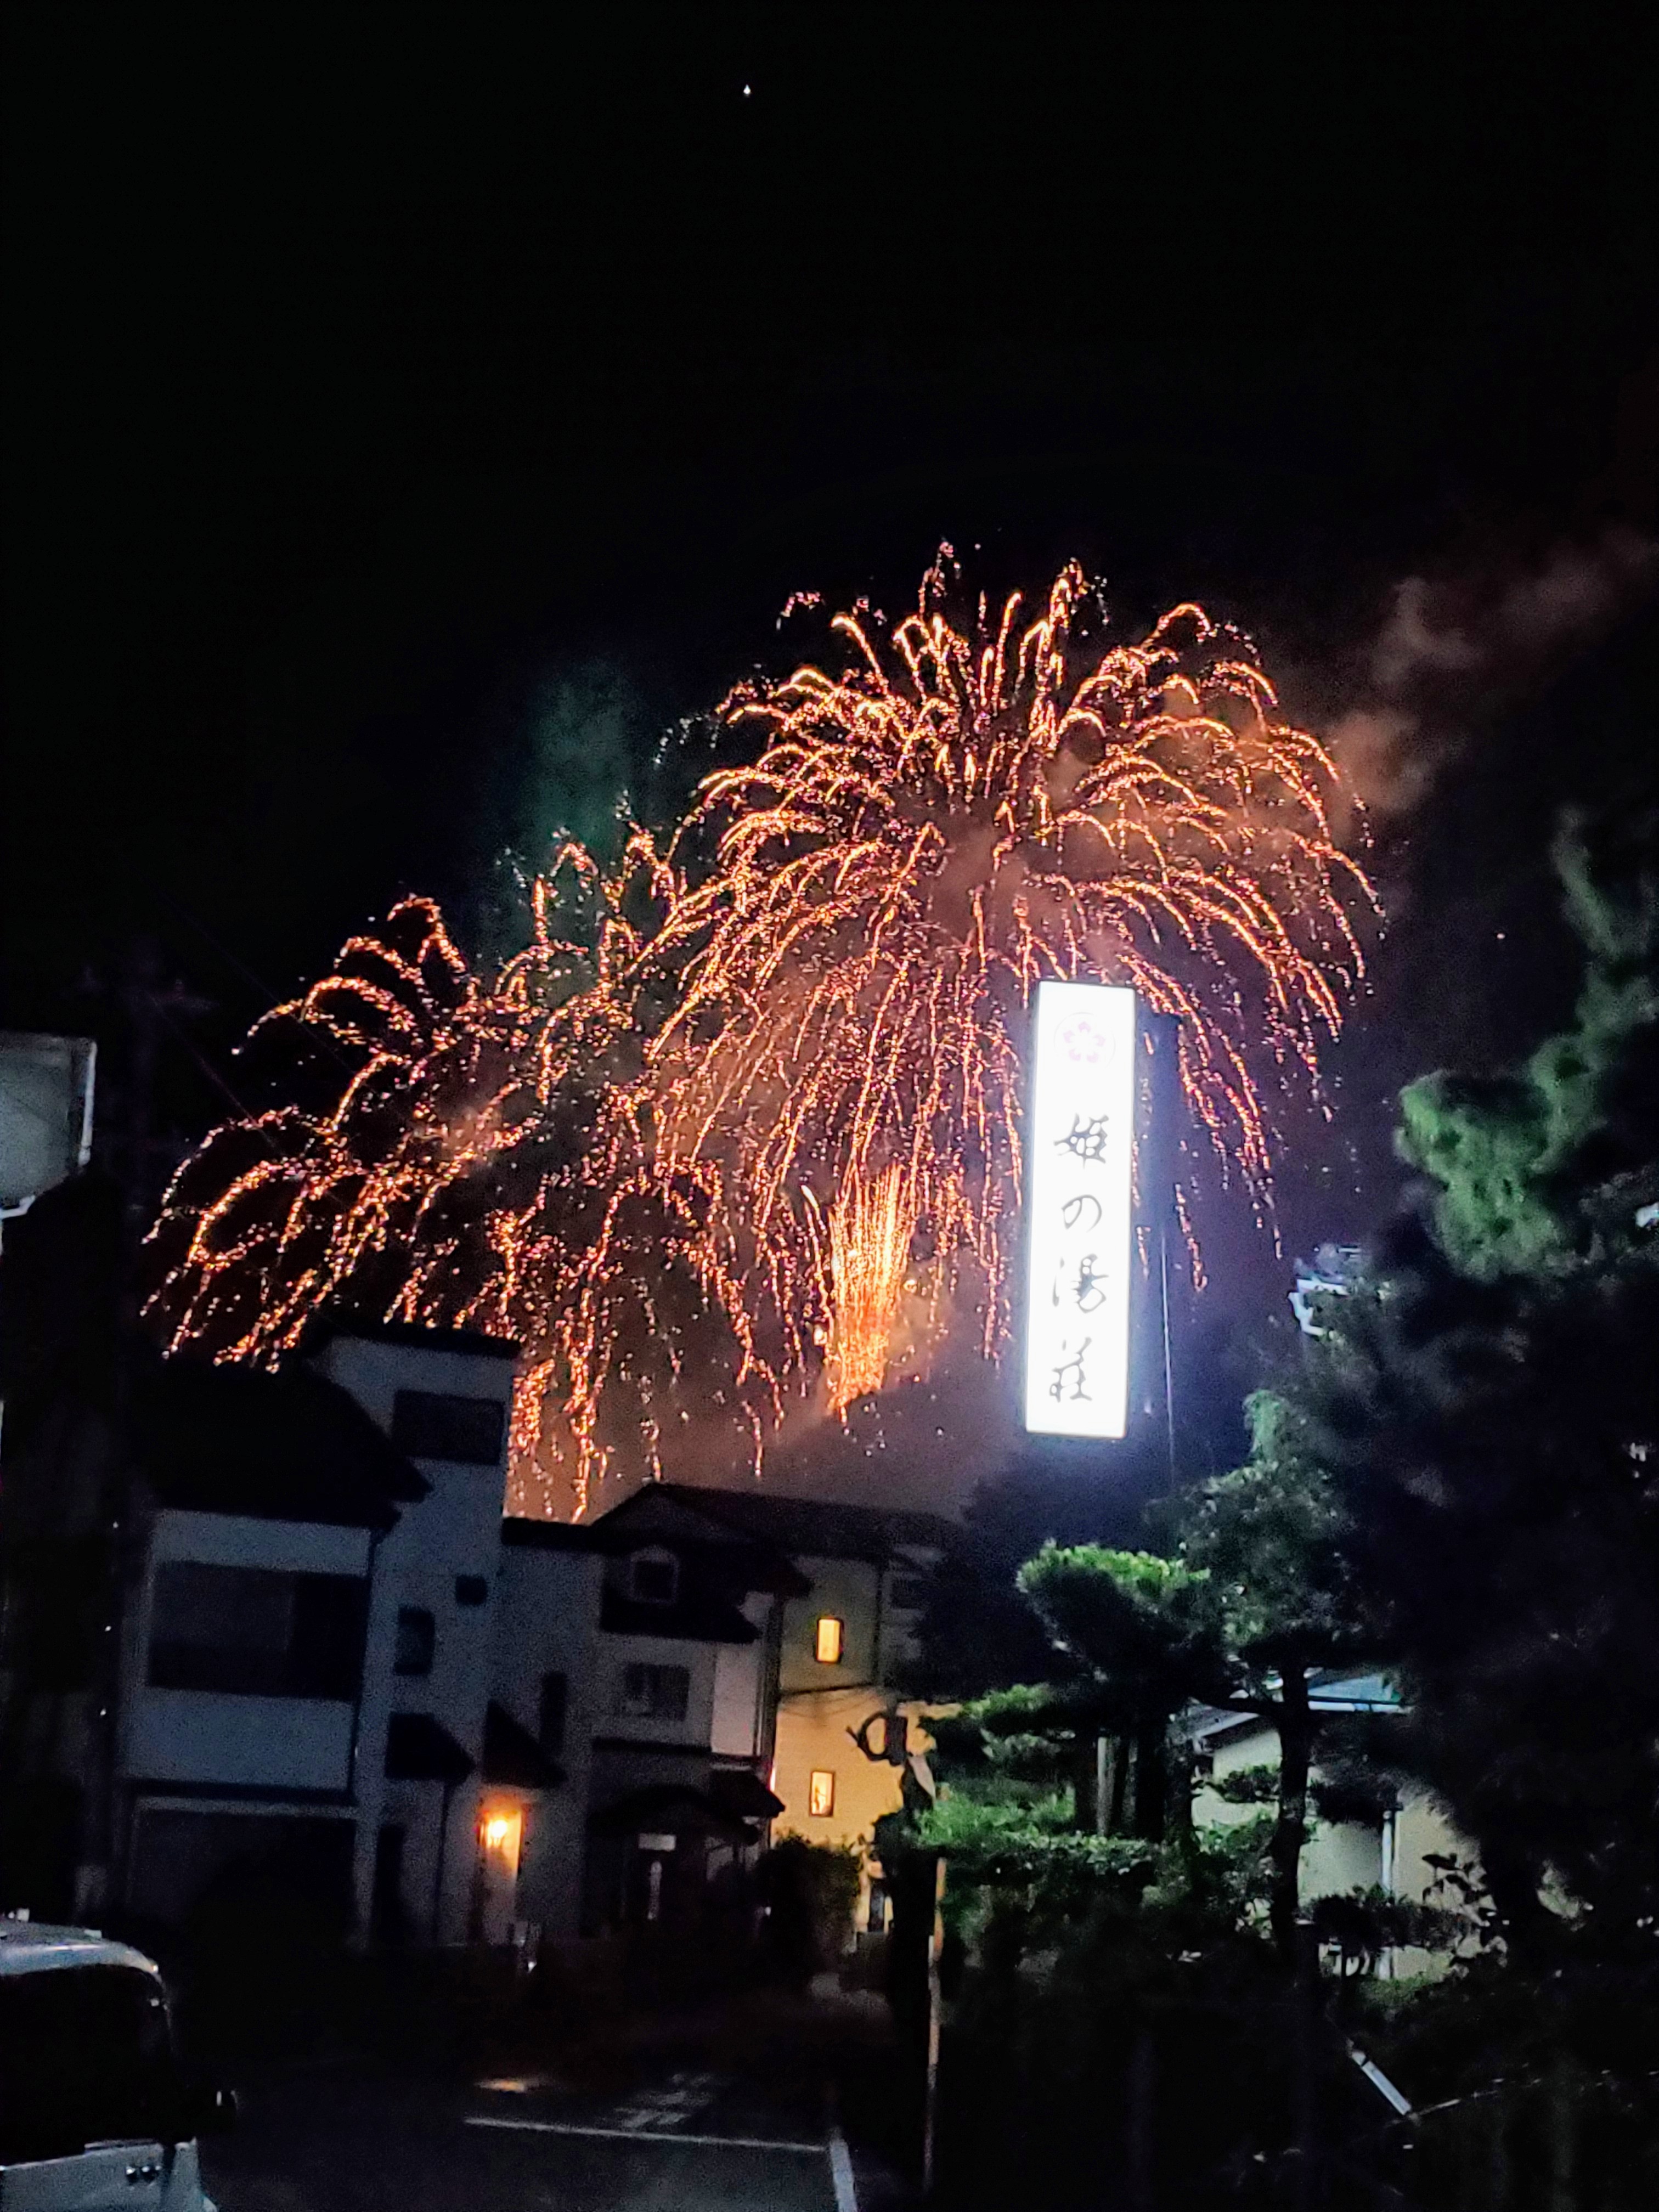
[[[155,1571],[148,1681],[219,1697],[325,1697],[363,1683],[367,1584],[166,1559]]]

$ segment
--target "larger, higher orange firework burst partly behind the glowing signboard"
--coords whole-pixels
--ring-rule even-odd
[[[761,754],[708,779],[675,847],[714,863],[666,925],[690,953],[653,1044],[659,1155],[721,1164],[792,1360],[799,1325],[845,1338],[816,1217],[876,1188],[938,1281],[975,1276],[987,1352],[1004,1338],[1042,978],[1175,1018],[1194,1117],[1265,1206],[1252,1060],[1316,1084],[1363,964],[1332,763],[1239,633],[1179,606],[1091,655],[1075,564],[1024,626],[1013,597],[956,628],[949,582],[936,564],[885,646],[867,611],[836,617],[841,672],[734,692]]]

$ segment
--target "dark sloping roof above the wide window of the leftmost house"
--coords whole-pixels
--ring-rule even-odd
[[[389,1528],[429,1484],[336,1383],[310,1367],[159,1360],[133,1385],[137,1462],[164,1506]]]

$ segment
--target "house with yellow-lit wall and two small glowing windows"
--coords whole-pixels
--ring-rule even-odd
[[[927,1513],[668,1482],[584,1528],[507,1524],[504,1586],[522,1595],[504,1624],[566,1624],[540,1635],[562,1637],[568,1688],[553,1694],[568,1701],[562,1741],[586,1798],[580,1927],[703,1909],[768,1832],[869,1843],[900,1803],[918,1708],[891,1683],[942,1542]],[[577,1590],[593,1608],[586,1648]],[[520,1626],[498,1646],[495,1679],[524,1717],[549,1694]],[[553,1854],[526,1867],[520,1911],[571,1924]]]

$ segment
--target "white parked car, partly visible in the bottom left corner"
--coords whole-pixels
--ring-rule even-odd
[[[0,2212],[212,2212],[197,2135],[232,2112],[179,2064],[155,1960],[0,1920]]]

